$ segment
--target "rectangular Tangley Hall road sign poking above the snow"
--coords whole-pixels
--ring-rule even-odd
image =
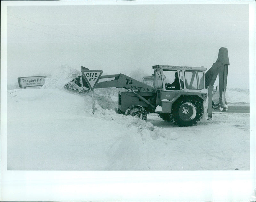
[[[28,76],[18,77],[18,83],[20,88],[26,88],[31,86],[42,86],[45,83],[46,76]]]

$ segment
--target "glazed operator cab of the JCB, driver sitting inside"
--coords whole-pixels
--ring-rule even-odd
[[[152,66],[154,72],[154,88],[164,91],[190,91],[205,88],[204,67],[186,66]],[[164,84],[164,85],[163,85]]]

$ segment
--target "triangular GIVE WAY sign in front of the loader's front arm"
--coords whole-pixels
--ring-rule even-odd
[[[100,79],[101,74],[103,73],[102,70],[81,70],[81,72],[91,90],[95,88],[97,82]]]

